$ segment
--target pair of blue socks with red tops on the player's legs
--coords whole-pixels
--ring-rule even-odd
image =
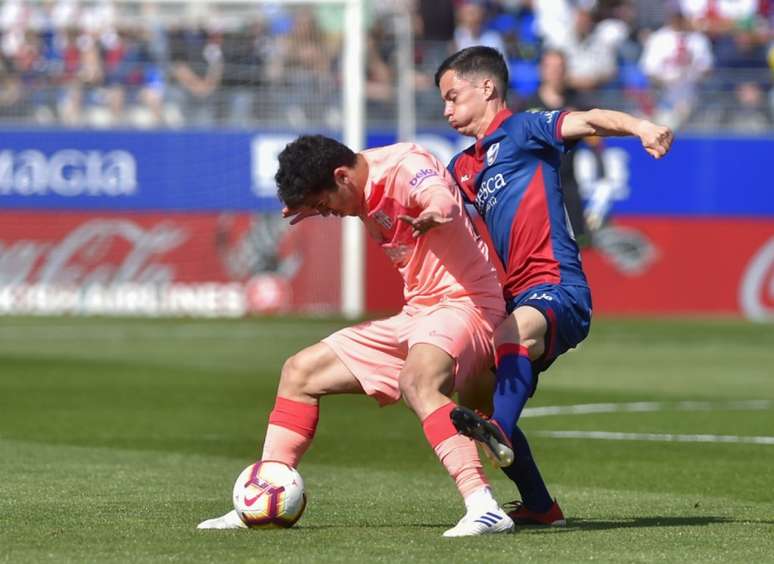
[[[517,426],[524,404],[533,389],[532,363],[527,348],[504,344],[497,347],[497,382],[492,419],[510,434],[515,460],[503,472],[515,484],[527,509],[545,512],[553,500],[540,475],[527,437]]]

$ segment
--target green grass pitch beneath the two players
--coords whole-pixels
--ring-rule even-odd
[[[197,531],[257,456],[283,360],[340,326],[0,320],[0,562],[774,562],[774,326],[730,320],[596,320],[542,377],[522,423],[564,529],[441,538],[463,507],[414,416],[337,397],[296,527]]]

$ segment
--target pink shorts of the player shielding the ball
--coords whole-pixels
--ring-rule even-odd
[[[337,331],[322,342],[333,349],[366,394],[387,405],[400,400],[400,371],[409,349],[417,343],[435,345],[455,360],[455,390],[492,366],[492,325],[501,320],[491,317],[467,303],[447,301],[404,308],[393,317]]]

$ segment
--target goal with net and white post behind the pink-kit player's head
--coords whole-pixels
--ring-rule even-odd
[[[358,225],[278,152],[363,140],[360,0],[0,4],[0,313],[362,311]]]

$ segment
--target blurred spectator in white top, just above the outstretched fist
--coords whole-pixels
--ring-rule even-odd
[[[667,25],[645,43],[640,65],[659,90],[656,120],[675,128],[693,111],[698,84],[712,69],[711,45],[707,36],[693,31],[680,9],[673,7]]]

